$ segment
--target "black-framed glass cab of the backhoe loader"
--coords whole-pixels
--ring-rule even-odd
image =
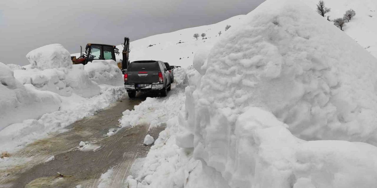
[[[107,44],[87,44],[85,47],[86,60],[84,65],[96,59],[109,60],[115,59],[115,53],[119,53],[119,50],[115,45]]]

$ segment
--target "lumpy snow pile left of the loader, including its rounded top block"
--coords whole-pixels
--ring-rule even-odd
[[[31,67],[26,70],[15,70],[15,77],[23,84],[32,84],[38,90],[52,91],[61,96],[71,96],[75,93],[90,98],[99,95],[100,87],[90,80],[84,65],[72,65],[70,58],[67,62],[64,58],[67,56],[66,53],[69,55],[60,44],[32,50],[28,53],[28,57],[32,58],[29,59]]]

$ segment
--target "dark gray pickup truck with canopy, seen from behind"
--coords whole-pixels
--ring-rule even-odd
[[[162,61],[133,61],[124,73],[124,87],[130,98],[138,91],[160,92],[165,97],[171,89],[171,75]]]

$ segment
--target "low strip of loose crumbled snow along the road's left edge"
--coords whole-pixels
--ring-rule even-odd
[[[20,117],[21,123],[11,124],[0,130],[0,151],[14,152],[35,139],[47,136],[49,132],[63,129],[81,118],[93,115],[123,97],[124,93],[123,86],[104,87],[100,95],[89,99],[76,94],[61,96],[60,110],[41,115],[40,118],[22,121],[22,114],[14,115],[13,118]],[[34,109],[36,108],[30,108],[30,111]]]

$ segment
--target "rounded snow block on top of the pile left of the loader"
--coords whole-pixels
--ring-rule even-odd
[[[26,55],[32,67],[47,68],[72,67],[70,53],[61,44],[49,44],[32,50]]]

